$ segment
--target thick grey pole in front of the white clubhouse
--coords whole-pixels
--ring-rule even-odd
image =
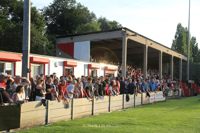
[[[31,0],[24,0],[22,76],[29,78]]]

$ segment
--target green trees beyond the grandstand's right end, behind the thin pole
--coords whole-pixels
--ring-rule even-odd
[[[171,48],[184,55],[187,55],[188,53],[188,29],[183,27],[180,23],[177,25]],[[198,43],[196,42],[196,37],[191,37],[190,39],[189,57],[192,62],[200,62],[200,50],[198,48]]]

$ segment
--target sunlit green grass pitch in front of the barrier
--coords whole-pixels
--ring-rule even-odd
[[[200,133],[200,97],[167,100],[20,132]]]

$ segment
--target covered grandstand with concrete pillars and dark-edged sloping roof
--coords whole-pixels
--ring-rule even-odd
[[[149,69],[171,79],[184,80],[182,73],[187,57],[128,28],[57,37],[57,56],[122,66],[142,68],[144,77]]]

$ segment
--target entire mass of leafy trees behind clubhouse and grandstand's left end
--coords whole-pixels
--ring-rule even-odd
[[[54,0],[39,11],[31,7],[31,52],[55,54],[57,35],[69,35],[119,28],[116,21],[97,19],[76,0]],[[22,52],[23,0],[0,2],[0,49]]]

